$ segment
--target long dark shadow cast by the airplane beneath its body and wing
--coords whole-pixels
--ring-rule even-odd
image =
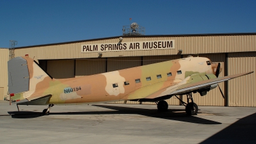
[[[163,118],[166,120],[177,120],[180,122],[189,122],[195,124],[221,124],[220,122],[215,122],[212,120],[207,120],[204,118],[198,118],[196,116],[188,116],[184,109],[169,109],[165,112],[159,112],[157,109],[143,109],[143,108],[129,108],[122,106],[107,106],[95,104],[92,106],[97,106],[100,108],[113,109],[111,111],[79,111],[79,112],[60,112],[60,113],[50,113],[50,115],[111,115],[111,114],[136,114],[144,115],[154,118]],[[43,116],[40,112],[35,111],[12,111],[8,112],[12,115],[12,118],[36,118]]]

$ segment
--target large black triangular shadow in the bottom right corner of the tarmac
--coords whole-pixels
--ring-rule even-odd
[[[256,141],[256,113],[239,119],[210,138],[204,143],[255,143]]]

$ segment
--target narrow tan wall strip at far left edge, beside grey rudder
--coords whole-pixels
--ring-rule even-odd
[[[0,87],[3,87],[3,97],[8,93],[8,68],[9,49],[0,49]],[[0,100],[3,100],[0,97]]]

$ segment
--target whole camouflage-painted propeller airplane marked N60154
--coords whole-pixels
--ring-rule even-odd
[[[26,54],[8,61],[8,90],[18,110],[18,105],[48,105],[42,115],[49,115],[54,104],[119,100],[156,102],[158,111],[167,111],[165,100],[177,95],[187,96],[187,102],[177,98],[187,115],[196,115],[198,106],[192,93],[204,96],[218,83],[253,73],[218,77],[221,71],[220,63],[189,56],[92,76],[54,79]]]

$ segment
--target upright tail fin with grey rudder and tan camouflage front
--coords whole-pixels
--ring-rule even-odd
[[[9,93],[21,93],[33,91],[44,84],[49,83],[52,77],[39,67],[38,63],[26,56],[13,58],[8,61],[8,88]],[[39,86],[39,87],[38,87]]]

